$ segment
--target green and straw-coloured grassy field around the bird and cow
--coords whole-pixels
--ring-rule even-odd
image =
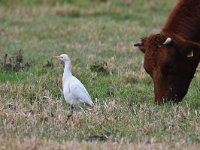
[[[174,5],[0,0],[0,149],[197,149],[200,73],[181,103],[156,105],[132,44],[159,32]],[[62,53],[95,102],[73,121],[61,95],[63,65],[51,59]]]

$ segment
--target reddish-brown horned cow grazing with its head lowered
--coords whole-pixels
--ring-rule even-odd
[[[156,102],[179,102],[200,61],[200,0],[179,0],[159,34],[135,44],[154,82]]]

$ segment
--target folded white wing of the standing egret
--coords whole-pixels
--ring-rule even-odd
[[[92,99],[85,89],[84,85],[76,78],[72,77],[70,81],[70,92],[76,99],[80,100],[82,103],[93,105]]]

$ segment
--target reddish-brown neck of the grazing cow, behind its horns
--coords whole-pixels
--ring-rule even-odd
[[[200,0],[180,0],[161,30],[187,40],[200,41]]]

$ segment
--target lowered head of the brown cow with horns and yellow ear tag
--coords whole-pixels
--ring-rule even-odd
[[[135,46],[144,53],[144,68],[153,79],[156,102],[181,101],[200,60],[200,44],[161,33],[145,37]]]

